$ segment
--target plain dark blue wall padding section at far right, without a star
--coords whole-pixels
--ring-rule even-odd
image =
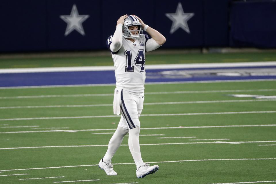
[[[276,47],[276,1],[232,3],[230,17],[230,46]]]

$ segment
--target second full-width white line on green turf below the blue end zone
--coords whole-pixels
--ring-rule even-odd
[[[275,96],[276,97],[276,96]],[[233,103],[233,102],[258,102],[276,101],[276,99],[252,99],[252,100],[212,100],[212,101],[176,101],[176,102],[154,102],[144,103],[144,105],[173,105],[173,104],[208,104],[208,103]],[[24,108],[78,108],[78,107],[99,107],[113,106],[113,104],[90,104],[90,105],[58,105],[58,106],[11,106],[0,107],[0,109],[24,109]]]

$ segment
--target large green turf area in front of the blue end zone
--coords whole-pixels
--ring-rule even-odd
[[[141,154],[160,169],[142,179],[128,137],[112,159],[117,176],[97,166],[112,134],[95,133],[114,132],[120,119],[105,117],[113,115],[113,91],[0,89],[0,183],[276,183],[275,99],[227,96],[276,95],[276,81],[145,85]]]

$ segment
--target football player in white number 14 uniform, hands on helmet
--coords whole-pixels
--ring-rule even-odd
[[[143,34],[143,30],[152,38],[149,39]],[[121,16],[114,34],[107,39],[116,77],[113,109],[114,114],[121,114],[118,128],[109,141],[108,150],[99,162],[99,167],[107,175],[117,175],[111,159],[127,133],[129,133],[129,150],[136,164],[136,176],[143,178],[159,169],[158,165],[150,166],[142,160],[139,145],[139,116],[144,102],[145,52],[157,49],[165,41],[160,32],[146,25],[135,15]]]

